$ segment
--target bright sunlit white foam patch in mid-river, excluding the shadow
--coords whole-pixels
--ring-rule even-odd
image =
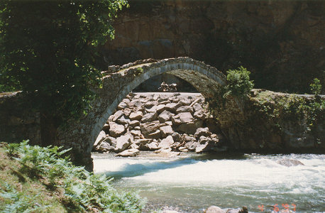
[[[299,167],[299,166],[297,166]],[[158,170],[130,179],[146,182],[196,185],[270,185],[282,184],[299,170],[283,168],[273,160],[206,160],[175,168]],[[302,180],[304,176],[299,175]]]

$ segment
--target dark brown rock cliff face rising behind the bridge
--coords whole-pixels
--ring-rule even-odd
[[[255,86],[307,92],[324,84],[325,1],[130,1],[102,49],[109,64],[189,56],[226,71],[240,65]]]

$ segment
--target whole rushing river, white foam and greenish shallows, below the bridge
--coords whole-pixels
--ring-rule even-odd
[[[136,158],[116,158],[94,153],[92,157],[95,173],[113,177],[118,189],[147,197],[144,212],[163,207],[203,212],[211,205],[247,206],[249,212],[276,212],[277,208],[325,212],[325,155],[187,153],[157,158],[142,153]],[[277,163],[286,158],[304,165]]]

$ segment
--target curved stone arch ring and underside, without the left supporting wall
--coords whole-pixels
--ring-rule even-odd
[[[176,75],[192,84],[204,97],[212,97],[218,89],[218,85],[226,85],[226,76],[222,72],[192,58],[170,58],[155,62],[143,61],[143,64],[128,64],[128,67],[121,68],[121,70],[117,70],[117,72],[109,74],[103,79],[103,90],[106,91],[111,85],[114,85],[109,92],[114,92],[115,97],[108,99],[107,107],[101,114],[101,118],[92,126],[91,138],[89,138],[90,149],[118,104],[139,84],[155,75],[164,72]],[[119,82],[119,85],[112,84],[116,81]],[[105,95],[107,94],[100,93],[100,97],[105,97]]]

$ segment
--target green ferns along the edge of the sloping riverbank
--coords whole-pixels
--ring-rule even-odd
[[[22,166],[21,173],[48,180],[49,187],[62,187],[70,211],[92,212],[93,209],[98,209],[99,212],[141,212],[143,208],[143,200],[135,193],[117,192],[106,176],[94,175],[83,167],[73,165],[67,158],[61,158],[69,150],[60,151],[61,148],[56,146],[30,146],[28,141],[9,145],[6,149],[10,155],[18,155],[16,160]],[[0,194],[1,197],[13,196],[6,209],[14,206],[25,208],[27,212],[33,211],[34,204],[26,206],[24,199],[15,198],[20,194],[5,191],[6,193]]]

